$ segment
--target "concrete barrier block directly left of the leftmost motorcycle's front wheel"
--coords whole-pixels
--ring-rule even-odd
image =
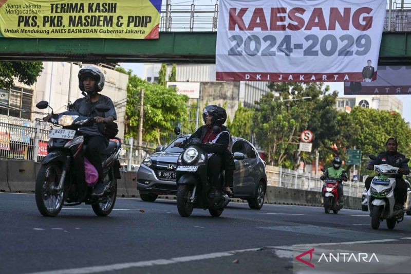
[[[7,174],[11,192],[34,192],[35,168],[33,161],[8,160]]]

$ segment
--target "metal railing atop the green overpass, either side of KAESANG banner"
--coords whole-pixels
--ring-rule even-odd
[[[160,31],[217,31],[218,1],[215,5],[163,5]],[[401,9],[402,8],[402,9]],[[384,19],[384,31],[411,31],[411,1],[394,1]]]

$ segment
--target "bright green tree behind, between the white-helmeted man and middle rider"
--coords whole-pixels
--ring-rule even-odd
[[[126,136],[138,136],[140,89],[144,89],[143,140],[158,144],[170,142],[170,133],[177,123],[188,117],[188,97],[172,87],[148,83],[129,73],[126,105]]]

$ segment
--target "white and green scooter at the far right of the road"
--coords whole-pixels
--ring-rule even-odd
[[[377,159],[374,155],[369,155],[371,160]],[[405,158],[401,163],[407,163],[409,159]],[[375,165],[374,171],[379,175],[371,180],[370,188],[367,192],[368,210],[371,216],[372,229],[378,229],[381,221],[387,220],[387,228],[394,229],[397,223],[404,220],[404,211],[402,209],[394,210],[396,179],[391,175],[399,174],[396,168],[387,164]]]

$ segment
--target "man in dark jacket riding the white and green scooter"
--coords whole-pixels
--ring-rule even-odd
[[[384,163],[396,168],[400,168],[398,172],[401,174],[394,174],[391,177],[396,179],[396,186],[394,189],[396,201],[394,209],[403,209],[405,196],[407,194],[407,186],[405,185],[402,174],[407,175],[409,173],[409,168],[407,163],[401,163],[401,161],[405,159],[405,156],[401,153],[398,153],[398,142],[395,138],[388,138],[388,140],[385,142],[385,147],[386,151],[379,153],[376,160],[370,160],[368,162],[367,169],[373,170],[375,165],[382,165]],[[371,185],[372,178],[373,176],[369,176],[365,179],[365,188],[367,189],[367,191]]]

